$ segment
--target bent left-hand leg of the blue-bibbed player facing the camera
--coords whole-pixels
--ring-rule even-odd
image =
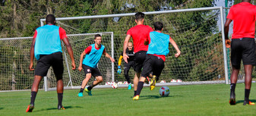
[[[92,74],[91,74],[92,67],[89,67],[89,66],[84,65],[84,64],[82,65],[82,67],[84,69],[85,79],[83,80],[83,82],[81,84],[80,92],[78,92],[77,96],[79,96],[79,97],[83,96],[84,88],[87,85],[90,78],[92,77]]]

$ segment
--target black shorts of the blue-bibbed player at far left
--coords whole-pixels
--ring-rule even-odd
[[[51,66],[55,75],[63,74],[64,67],[62,52],[55,52],[50,55],[40,55],[40,59],[37,61],[36,64],[35,75],[39,75],[42,77],[46,76],[49,67]]]

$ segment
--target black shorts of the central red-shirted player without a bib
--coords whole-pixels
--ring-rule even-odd
[[[136,73],[141,73],[141,69],[143,67],[143,63],[146,59],[147,51],[139,51],[134,54],[134,71]]]

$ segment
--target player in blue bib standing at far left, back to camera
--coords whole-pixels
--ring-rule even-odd
[[[65,43],[68,54],[72,61],[72,70],[75,69],[74,55],[65,30],[62,27],[57,27],[55,24],[55,16],[49,14],[46,16],[46,25],[38,27],[33,36],[32,45],[30,48],[30,71],[33,69],[33,58],[36,57],[36,71],[31,88],[30,105],[27,106],[26,112],[32,112],[38,86],[42,77],[45,77],[49,67],[52,66],[53,72],[57,80],[58,93],[58,109],[65,109],[62,106],[63,98],[63,80],[62,74],[64,71],[62,59],[62,45],[61,40]]]

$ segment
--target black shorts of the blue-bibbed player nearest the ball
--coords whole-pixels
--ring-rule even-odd
[[[146,60],[143,64],[143,70],[141,77],[148,77],[149,74],[153,73],[156,77],[160,77],[164,67],[164,61],[162,58],[155,55],[147,55]]]

